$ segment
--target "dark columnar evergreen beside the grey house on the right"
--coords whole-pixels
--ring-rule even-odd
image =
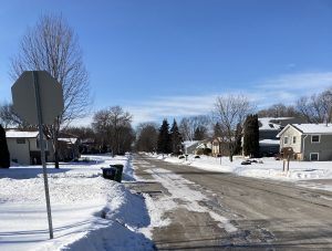
[[[249,115],[245,122],[243,151],[246,156],[259,156],[258,115]]]

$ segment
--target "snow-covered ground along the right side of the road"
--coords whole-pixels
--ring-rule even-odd
[[[158,159],[174,164],[183,164],[204,169],[207,171],[232,172],[239,176],[262,178],[262,179],[277,179],[283,181],[309,181],[313,179],[332,179],[332,161],[290,161],[289,171],[282,171],[282,160],[274,158],[257,159],[262,163],[252,163],[251,165],[241,165],[245,160],[241,156],[235,156],[234,161],[230,163],[228,157],[215,158],[209,156],[200,156],[195,158],[189,155],[188,159],[179,159],[177,157],[149,155]],[[320,185],[319,182],[301,182],[301,186],[310,188],[331,190],[332,186]]]

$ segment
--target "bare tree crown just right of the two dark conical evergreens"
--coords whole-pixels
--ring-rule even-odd
[[[191,117],[184,117],[179,124],[179,132],[184,140],[195,140],[195,132],[200,133],[201,137],[206,136],[210,119],[208,116],[198,115]]]

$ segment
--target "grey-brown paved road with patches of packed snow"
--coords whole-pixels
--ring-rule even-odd
[[[163,220],[170,219],[170,224],[153,232],[159,250],[332,250],[332,192],[207,172],[143,155],[135,156],[134,166],[148,180],[134,189],[149,194],[159,207],[172,200],[184,206],[165,209]],[[193,196],[181,194],[186,187]],[[204,195],[199,201],[197,192]],[[220,223],[218,216],[229,223]]]

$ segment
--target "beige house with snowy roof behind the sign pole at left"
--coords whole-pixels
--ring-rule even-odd
[[[41,165],[39,132],[7,129],[6,139],[10,159],[19,165]],[[50,159],[50,142],[44,139],[45,158]]]

